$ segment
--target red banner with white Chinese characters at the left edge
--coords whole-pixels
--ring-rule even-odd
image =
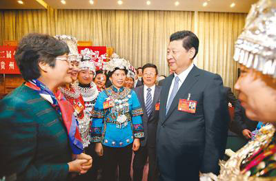
[[[17,47],[0,46],[0,74],[20,74],[14,54]]]

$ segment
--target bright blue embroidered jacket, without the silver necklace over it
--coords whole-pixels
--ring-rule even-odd
[[[103,103],[112,94],[126,94],[119,100],[126,101],[127,105],[124,115],[127,118],[127,125],[118,127],[117,112],[112,108],[103,109]],[[92,142],[101,142],[108,147],[126,147],[133,142],[134,138],[144,138],[144,127],[141,115],[143,109],[140,106],[137,95],[131,89],[121,87],[119,90],[111,86],[105,89],[97,97],[97,101],[92,111]]]

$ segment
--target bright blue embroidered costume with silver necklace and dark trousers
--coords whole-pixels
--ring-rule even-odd
[[[103,145],[103,181],[130,180],[132,142],[144,138],[139,100],[135,92],[113,85],[103,90],[92,111],[92,142]],[[99,143],[98,143],[99,144]]]

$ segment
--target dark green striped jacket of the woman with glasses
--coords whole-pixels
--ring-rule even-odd
[[[0,175],[17,180],[68,180],[72,152],[61,116],[21,85],[0,101]]]

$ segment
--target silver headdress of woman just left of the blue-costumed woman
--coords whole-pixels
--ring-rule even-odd
[[[95,74],[95,61],[92,59],[94,54],[95,53],[89,48],[81,50],[82,61],[79,63],[79,70],[91,70]]]

